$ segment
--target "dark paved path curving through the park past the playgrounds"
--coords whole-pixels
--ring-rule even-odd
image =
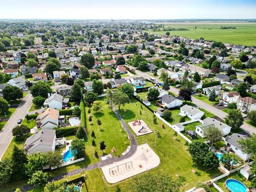
[[[71,172],[68,172],[68,173],[61,174],[59,176],[50,178],[48,181],[56,181],[56,180],[63,179],[64,177],[70,177],[70,176],[73,176],[73,175],[80,174],[83,171],[87,171],[87,170],[91,170],[91,169],[95,169],[95,168],[100,168],[100,167],[103,167],[105,165],[109,165],[109,164],[112,164],[114,162],[118,162],[118,161],[127,159],[127,158],[131,157],[133,154],[135,154],[135,152],[137,150],[137,146],[138,146],[135,136],[132,134],[131,130],[126,125],[126,123],[124,122],[124,120],[122,119],[120,114],[118,113],[118,111],[115,108],[115,106],[113,106],[113,110],[114,110],[118,120],[122,124],[123,129],[126,131],[127,135],[129,136],[129,139],[131,141],[130,151],[128,153],[126,153],[125,155],[123,155],[123,156],[113,157],[113,158],[110,158],[110,159],[103,160],[103,161],[101,161],[99,163],[95,163],[95,164],[88,165],[86,167],[78,168],[78,169],[72,170]],[[22,191],[27,191],[27,190],[31,190],[33,188],[34,188],[33,185],[26,185],[26,186],[21,187],[20,189]]]

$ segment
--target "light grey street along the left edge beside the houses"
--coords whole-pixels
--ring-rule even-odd
[[[32,105],[32,100],[33,98],[30,93],[26,95],[0,132],[0,160],[13,138],[12,129],[17,125],[18,119],[24,119]]]

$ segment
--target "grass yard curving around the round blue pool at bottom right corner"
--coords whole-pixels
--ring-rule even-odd
[[[237,177],[237,175],[239,177]],[[226,189],[226,184],[225,184],[225,181],[227,179],[236,179],[236,180],[239,180],[240,182],[242,182],[243,184],[245,184],[246,187],[250,186],[251,182],[250,181],[245,181],[245,177],[242,176],[240,173],[236,172],[236,173],[232,173],[230,174],[229,176],[227,177],[224,177],[218,181],[216,181],[215,183],[224,191],[224,192],[229,192],[228,189]]]

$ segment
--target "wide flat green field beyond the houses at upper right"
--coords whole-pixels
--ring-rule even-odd
[[[195,30],[195,27],[197,29]],[[236,29],[221,29],[221,27],[236,27]],[[166,24],[164,28],[185,28],[187,31],[169,31],[170,36],[183,36],[189,38],[203,37],[205,40],[222,41],[234,45],[256,45],[256,23],[244,24]],[[154,34],[165,34],[166,31],[145,31]]]

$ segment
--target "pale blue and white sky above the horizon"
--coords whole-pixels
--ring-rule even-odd
[[[256,0],[0,0],[0,18],[256,18]]]

